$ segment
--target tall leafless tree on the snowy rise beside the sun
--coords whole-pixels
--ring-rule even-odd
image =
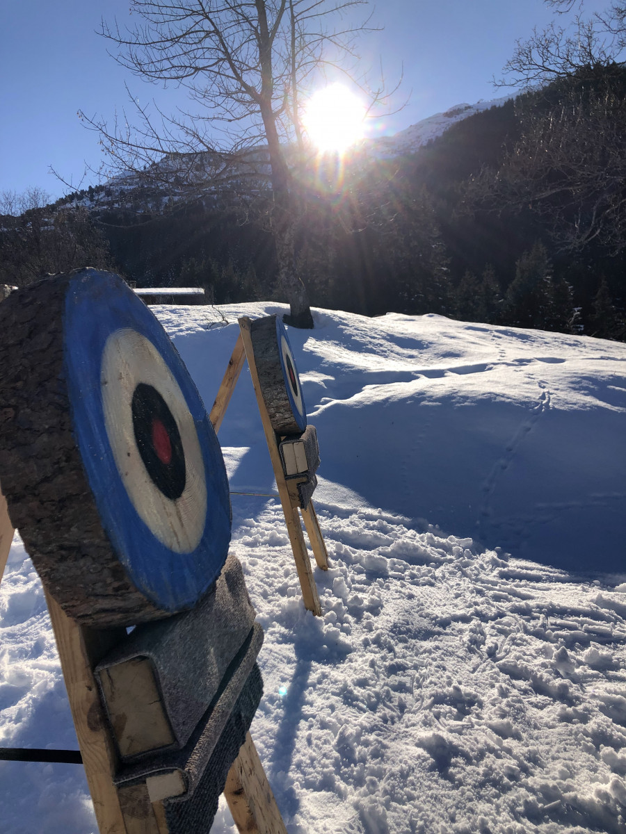
[[[198,194],[220,179],[269,179],[270,224],[278,284],[290,301],[290,323],[312,327],[305,286],[295,269],[295,198],[285,143],[303,148],[303,93],[328,70],[351,77],[354,25],[365,0],[131,0],[143,23],[121,31],[102,24],[125,68],[154,83],[185,88],[193,109],[166,116],[135,105],[132,118],[109,125],[86,118],[101,133],[119,172],[184,184]],[[366,88],[364,78],[356,78]],[[366,91],[371,100],[381,89]],[[83,116],[83,118],[85,118]],[[261,149],[260,145],[264,147]]]

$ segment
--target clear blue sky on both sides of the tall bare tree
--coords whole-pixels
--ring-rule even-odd
[[[590,9],[607,3],[588,3]],[[382,63],[389,83],[404,80],[399,113],[387,133],[454,104],[497,98],[492,76],[512,53],[516,38],[548,23],[543,0],[386,0],[373,21],[381,33],[361,43],[363,65]],[[4,0],[0,12],[0,192],[38,186],[58,197],[67,188],[53,166],[78,183],[84,161],[97,167],[98,135],[83,128],[78,109],[112,118],[126,101],[124,81],[140,102],[159,88],[124,73],[94,33],[100,18],[129,18],[129,0]],[[166,102],[175,102],[175,91]],[[399,100],[400,100],[399,98]],[[88,184],[88,183],[85,183]]]

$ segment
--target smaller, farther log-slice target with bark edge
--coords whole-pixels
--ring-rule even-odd
[[[250,325],[256,369],[265,408],[278,435],[306,428],[306,406],[285,325],[275,315]]]

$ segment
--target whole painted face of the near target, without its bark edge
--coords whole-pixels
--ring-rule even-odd
[[[187,609],[220,574],[230,543],[228,479],[204,404],[161,324],[117,276],[83,273],[69,282],[63,339],[73,435],[103,530],[153,605],[164,614]],[[144,346],[145,374],[124,344]],[[119,374],[109,367],[108,386],[104,358],[117,367],[116,351]],[[110,394],[116,385],[119,407]]]

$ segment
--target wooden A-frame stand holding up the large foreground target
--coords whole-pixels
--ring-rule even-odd
[[[0,492],[0,581],[13,540],[13,525]],[[113,776],[118,756],[93,677],[93,668],[126,634],[124,628],[92,629],[78,625],[46,593],[46,602],[78,747],[100,834],[167,834],[163,802],[151,802],[145,783],[118,788]],[[230,767],[224,789],[238,831],[287,834],[285,823],[250,733]],[[194,832],[189,831],[189,834]]]

